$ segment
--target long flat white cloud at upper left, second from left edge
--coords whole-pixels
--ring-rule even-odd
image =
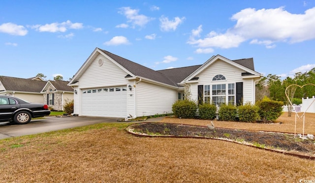
[[[32,29],[40,32],[65,32],[67,29],[82,29],[82,23],[72,23],[70,20],[62,23],[51,23],[45,25],[33,25]]]

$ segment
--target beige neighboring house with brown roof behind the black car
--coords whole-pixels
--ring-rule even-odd
[[[0,94],[11,95],[33,103],[43,103],[43,93],[40,91],[46,81],[0,76]]]

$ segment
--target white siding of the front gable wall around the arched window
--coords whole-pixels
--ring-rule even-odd
[[[242,79],[242,69],[239,69],[225,61],[215,61],[212,65],[199,73],[196,77],[199,77],[198,83],[191,83],[190,94],[191,99],[198,101],[198,85],[216,85],[216,84],[228,84],[243,82],[243,103],[248,101],[254,103],[254,83],[252,79]],[[213,77],[221,74],[226,80],[212,81]],[[226,86],[227,90],[227,86]],[[226,91],[227,92],[227,91]],[[212,96],[212,95],[211,95]]]

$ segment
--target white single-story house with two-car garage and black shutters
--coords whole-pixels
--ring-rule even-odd
[[[217,55],[202,65],[155,71],[96,48],[68,85],[75,92],[74,114],[135,118],[172,113],[185,89],[199,102],[254,103],[260,77],[253,59]]]

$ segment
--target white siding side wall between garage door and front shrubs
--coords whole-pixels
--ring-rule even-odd
[[[172,113],[172,105],[178,100],[178,91],[146,83],[136,85],[137,116]]]

